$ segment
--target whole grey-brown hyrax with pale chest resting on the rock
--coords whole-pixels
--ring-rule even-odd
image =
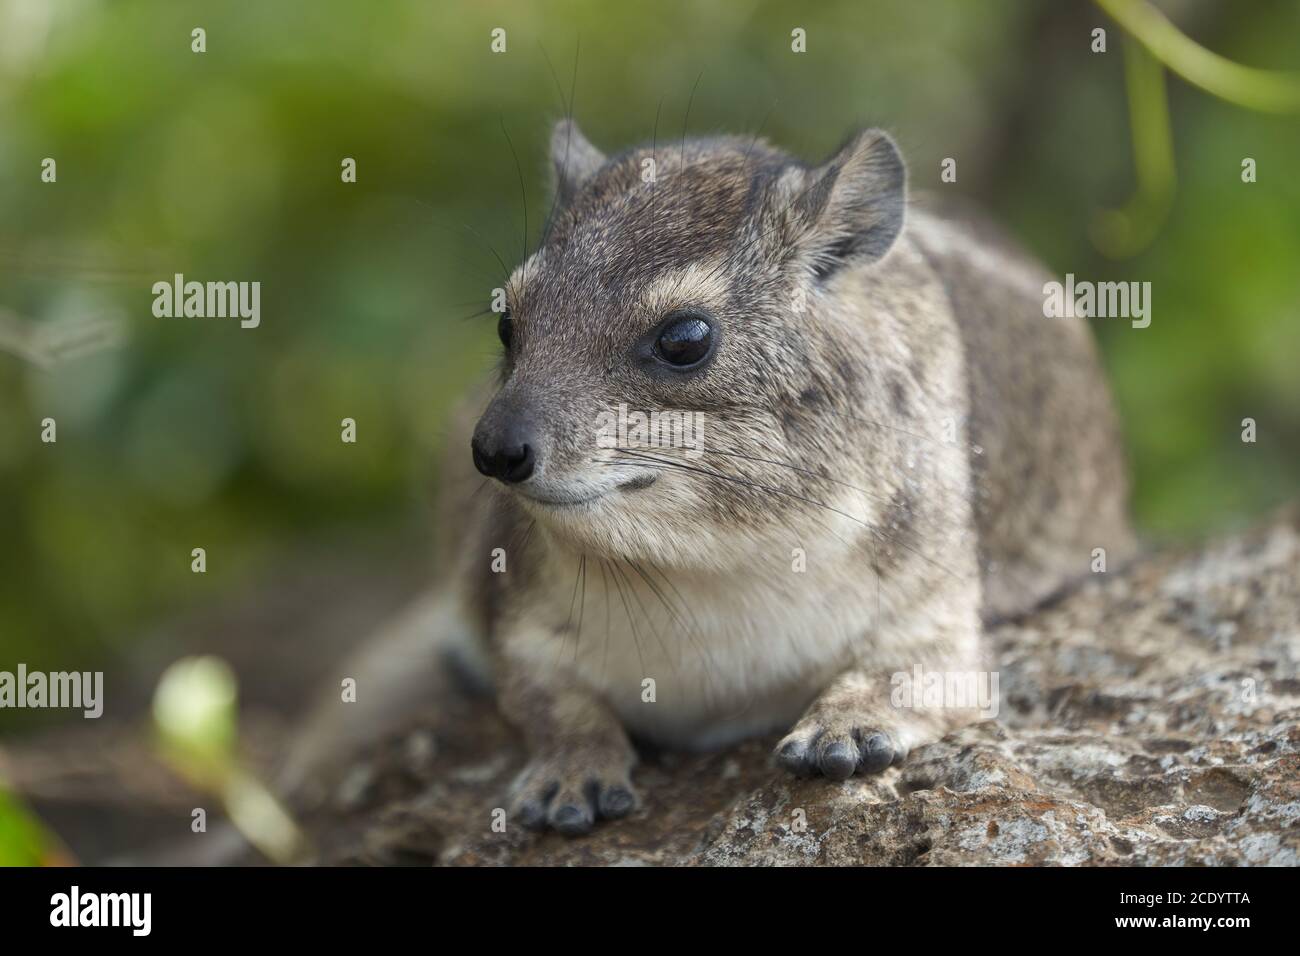
[[[815,166],[744,138],[607,157],[568,121],[551,152],[467,442],[488,477],[454,441],[443,509],[446,602],[532,754],[511,818],[633,812],[630,739],[779,730],[779,767],[842,780],[987,708],[900,676],[970,687],[982,619],[1131,546],[1048,277],[909,209],[879,130]]]

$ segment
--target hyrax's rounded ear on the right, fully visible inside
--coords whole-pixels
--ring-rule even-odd
[[[858,133],[810,170],[792,212],[818,276],[888,252],[902,232],[906,198],[907,169],[883,130]]]

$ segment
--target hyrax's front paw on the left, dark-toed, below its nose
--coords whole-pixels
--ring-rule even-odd
[[[602,754],[534,757],[515,780],[511,818],[580,836],[598,819],[627,817],[638,804],[625,760]]]

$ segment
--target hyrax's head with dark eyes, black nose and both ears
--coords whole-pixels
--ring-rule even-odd
[[[607,557],[723,567],[824,522],[818,502],[879,440],[854,423],[890,415],[861,373],[862,310],[840,307],[902,228],[889,137],[859,133],[819,166],[741,138],[606,157],[562,121],[551,159],[478,470]]]

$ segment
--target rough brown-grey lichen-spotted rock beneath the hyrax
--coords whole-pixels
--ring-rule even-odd
[[[844,783],[775,737],[649,758],[589,836],[493,832],[523,762],[456,697],[304,810],[320,862],[1300,865],[1300,515],[1144,558],[994,628],[1001,709]]]

